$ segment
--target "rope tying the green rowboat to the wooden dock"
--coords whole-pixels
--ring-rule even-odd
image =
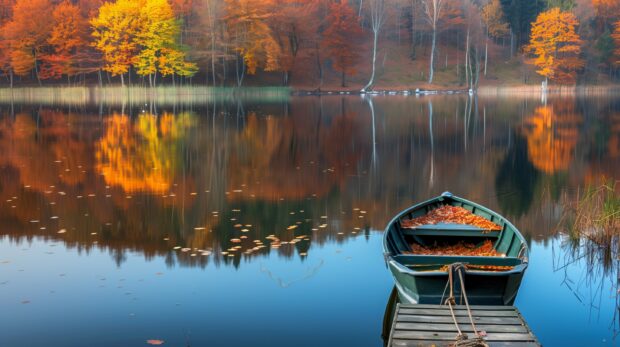
[[[469,308],[469,301],[467,300],[467,292],[465,291],[465,282],[463,279],[463,270],[465,270],[465,265],[463,263],[454,263],[448,266],[448,283],[446,283],[446,287],[444,288],[444,293],[441,297],[442,301],[446,293],[446,289],[450,287],[450,295],[444,301],[444,305],[448,305],[450,308],[450,315],[452,316],[452,320],[454,321],[454,326],[456,327],[457,335],[456,341],[454,342],[455,347],[488,347],[489,345],[484,341],[484,337],[478,332],[476,329],[476,324],[474,323],[474,317],[471,314],[471,309]],[[460,284],[461,284],[461,298],[465,300],[465,307],[467,308],[467,315],[469,316],[469,321],[471,323],[471,327],[474,330],[474,338],[469,339],[467,334],[461,331],[459,327],[459,323],[456,319],[456,315],[454,314],[454,309],[452,305],[456,305],[456,298],[454,297],[454,273],[458,273]]]

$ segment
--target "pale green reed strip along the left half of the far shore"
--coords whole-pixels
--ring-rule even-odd
[[[203,86],[132,87],[30,87],[0,88],[0,103],[39,105],[183,105],[209,104],[215,100],[281,102],[288,100],[285,87],[214,88]]]

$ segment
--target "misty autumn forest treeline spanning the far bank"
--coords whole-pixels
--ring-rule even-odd
[[[620,0],[0,0],[0,28],[11,87],[241,86],[258,72],[261,85],[321,87],[329,74],[345,86],[363,72],[369,89],[395,59],[389,44],[424,61],[425,82],[454,65],[470,88],[494,47],[557,83],[614,80],[620,66]]]

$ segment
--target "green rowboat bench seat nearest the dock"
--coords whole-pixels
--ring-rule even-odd
[[[517,266],[523,260],[516,257],[476,257],[476,256],[455,256],[455,255],[416,255],[401,254],[394,256],[394,260],[404,266],[413,265],[448,265],[453,263],[466,263],[472,265],[493,265],[493,266]]]

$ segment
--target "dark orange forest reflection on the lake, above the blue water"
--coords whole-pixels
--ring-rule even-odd
[[[109,249],[118,262],[132,250],[239,266],[269,252],[303,258],[451,190],[544,239],[552,228],[535,226],[557,222],[544,211],[562,191],[620,171],[618,108],[468,96],[13,105],[0,120],[1,232]]]

